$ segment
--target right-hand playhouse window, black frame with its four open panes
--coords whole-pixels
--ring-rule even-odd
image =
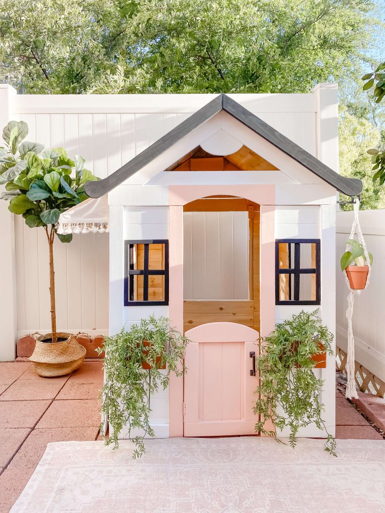
[[[276,241],[276,305],[319,305],[320,240]]]

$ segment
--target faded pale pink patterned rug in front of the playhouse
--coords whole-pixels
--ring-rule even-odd
[[[385,508],[385,441],[295,450],[256,437],[48,444],[11,513],[367,513]]]

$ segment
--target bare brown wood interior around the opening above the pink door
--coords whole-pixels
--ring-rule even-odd
[[[260,331],[260,293],[259,293],[259,232],[260,208],[243,199],[221,199],[210,202],[197,200],[186,205],[185,211],[247,211],[249,220],[248,247],[248,300],[185,300],[183,305],[184,331],[209,322],[236,322]]]

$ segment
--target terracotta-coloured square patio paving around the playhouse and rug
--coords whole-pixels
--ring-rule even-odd
[[[29,362],[0,363],[0,513],[8,513],[47,443],[97,440],[103,363],[70,376],[41,378]],[[336,390],[336,437],[382,439]]]

